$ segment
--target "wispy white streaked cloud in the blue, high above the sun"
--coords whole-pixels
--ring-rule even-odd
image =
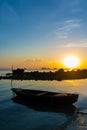
[[[79,19],[69,19],[64,21],[60,27],[56,30],[56,35],[60,39],[66,39],[68,36],[76,29],[78,29],[80,25]]]

